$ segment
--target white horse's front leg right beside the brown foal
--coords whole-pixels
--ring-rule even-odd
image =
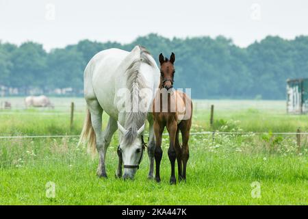
[[[154,157],[155,157],[155,133],[154,133],[154,121],[153,118],[149,118],[149,145],[148,145],[148,155],[150,159],[150,169],[148,179],[153,179],[154,177]]]

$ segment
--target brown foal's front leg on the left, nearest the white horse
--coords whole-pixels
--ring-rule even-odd
[[[162,133],[164,131],[164,126],[159,125],[156,121],[154,121],[154,132],[155,132],[155,164],[156,164],[156,170],[155,170],[155,180],[157,183],[160,182],[160,175],[159,175],[159,168],[160,168],[160,162],[162,161]]]

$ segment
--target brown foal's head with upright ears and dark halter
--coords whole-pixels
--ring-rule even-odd
[[[170,60],[165,58],[162,53],[159,54],[160,63],[160,85],[159,88],[169,90],[173,88],[173,77],[175,76],[175,53],[171,53]]]

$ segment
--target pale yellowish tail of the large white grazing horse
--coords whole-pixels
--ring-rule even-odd
[[[96,140],[97,138],[92,127],[90,110],[87,110],[87,115],[84,120],[84,127],[82,128],[78,145],[88,142],[88,150],[95,153],[97,149]]]

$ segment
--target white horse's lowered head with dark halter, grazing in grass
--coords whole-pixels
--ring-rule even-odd
[[[122,134],[118,146],[118,156],[123,159],[124,179],[133,179],[139,168],[146,146],[142,136],[144,126],[145,124],[138,130],[131,128],[127,130],[118,123],[118,130]]]

